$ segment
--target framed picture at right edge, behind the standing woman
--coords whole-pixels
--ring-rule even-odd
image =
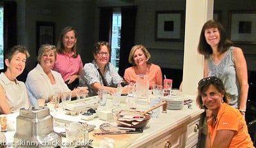
[[[228,11],[228,31],[234,43],[256,44],[256,11]]]

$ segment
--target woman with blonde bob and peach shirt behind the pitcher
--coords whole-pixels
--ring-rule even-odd
[[[143,45],[135,45],[129,54],[129,63],[132,64],[124,73],[124,79],[127,82],[136,82],[137,75],[148,75],[149,88],[154,84],[163,85],[163,75],[161,68],[156,64],[150,63],[150,53]]]

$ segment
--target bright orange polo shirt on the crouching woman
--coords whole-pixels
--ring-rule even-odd
[[[214,142],[216,132],[221,129],[237,131],[232,138],[229,147],[253,147],[252,140],[248,133],[246,121],[239,110],[223,103],[217,115],[217,121],[214,123],[211,116],[207,121],[208,132],[211,135],[211,145]]]

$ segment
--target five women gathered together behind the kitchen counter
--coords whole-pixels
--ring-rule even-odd
[[[133,70],[125,71],[127,79],[124,79],[118,75],[113,64],[109,62],[111,47],[108,42],[98,41],[95,43],[94,59],[92,63],[86,63],[84,66],[76,42],[74,28],[65,27],[61,31],[57,47],[49,44],[41,45],[38,50],[38,64],[29,71],[25,84],[17,80],[17,77],[25,68],[29,52],[26,47],[20,45],[9,50],[5,59],[7,69],[0,75],[1,114],[10,114],[23,107],[38,105],[37,100],[41,98],[49,101],[52,94],[70,92],[73,97],[76,97],[76,93],[82,91],[89,92],[89,95],[93,96],[97,95],[99,89],[107,89],[109,93],[113,93],[117,91],[118,84],[134,82],[136,81],[134,76],[139,74],[152,76],[150,87],[153,84],[162,85],[161,69],[149,62],[150,54],[142,45],[132,48],[129,61],[134,64]],[[13,58],[15,59],[13,60]],[[129,73],[132,73],[132,77],[129,76]],[[6,80],[13,85],[7,85]],[[79,89],[76,89],[77,86]],[[17,87],[18,90],[10,91],[9,88],[12,87]],[[22,93],[20,93],[21,91]]]

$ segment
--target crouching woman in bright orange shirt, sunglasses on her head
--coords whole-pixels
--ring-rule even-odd
[[[230,107],[223,82],[217,77],[198,82],[196,103],[211,111],[207,119],[206,147],[253,147],[241,110]]]

